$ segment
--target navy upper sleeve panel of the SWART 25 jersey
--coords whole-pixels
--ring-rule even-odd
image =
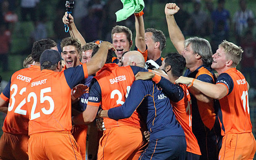
[[[69,85],[69,88],[72,89],[73,87],[78,85],[78,83],[85,77],[83,73],[83,65],[65,69],[64,75],[66,78],[66,82]]]

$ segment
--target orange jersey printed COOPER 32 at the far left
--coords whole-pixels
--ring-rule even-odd
[[[11,134],[28,134],[28,113],[24,108],[26,99],[23,95],[26,92],[26,86],[40,73],[40,66],[31,66],[24,68],[12,75],[12,78],[6,89],[1,94],[5,101],[9,100],[8,113],[5,117],[3,132]]]

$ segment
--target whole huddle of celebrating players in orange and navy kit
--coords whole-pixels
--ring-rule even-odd
[[[213,54],[204,38],[185,40],[178,11],[166,4],[178,53],[164,58],[164,33],[144,28],[143,11],[133,51],[129,28],[115,26],[112,43],[86,43],[66,12],[62,52],[34,42],[0,94],[0,160],[253,160],[242,48],[224,40]]]

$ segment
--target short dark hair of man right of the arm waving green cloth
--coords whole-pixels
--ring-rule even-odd
[[[145,33],[146,32],[152,32],[152,39],[154,40],[154,42],[160,42],[159,50],[163,51],[163,49],[166,47],[166,37],[164,33],[155,28],[147,28],[145,29]]]

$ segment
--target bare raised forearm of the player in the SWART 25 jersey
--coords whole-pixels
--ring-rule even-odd
[[[114,46],[110,42],[102,42],[99,50],[96,52],[92,59],[86,63],[88,75],[92,75],[99,71],[105,64],[109,49],[114,49]]]

